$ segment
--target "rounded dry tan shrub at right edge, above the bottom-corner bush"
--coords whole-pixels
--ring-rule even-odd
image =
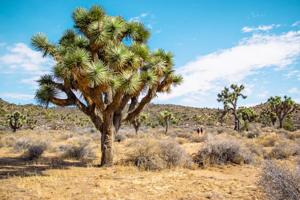
[[[289,139],[282,139],[271,150],[271,158],[288,158],[297,154],[297,144]]]

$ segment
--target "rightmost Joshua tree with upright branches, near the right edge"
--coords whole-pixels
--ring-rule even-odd
[[[283,128],[283,119],[285,117],[291,117],[292,112],[298,108],[298,105],[291,99],[291,97],[287,97],[285,95],[283,98],[284,101],[281,100],[281,97],[277,96],[268,98],[268,106],[279,119],[280,128]]]

